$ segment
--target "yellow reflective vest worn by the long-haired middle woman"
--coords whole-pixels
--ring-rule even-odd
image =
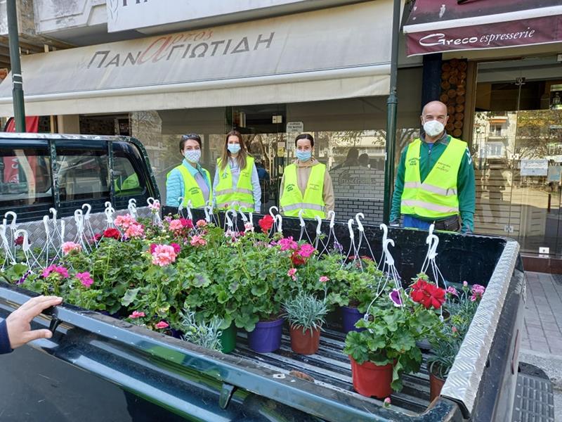
[[[233,174],[230,165],[221,170],[221,159],[216,160],[218,168],[218,184],[215,189],[216,206],[219,209],[230,208],[235,204],[235,209],[246,208],[254,211],[254,188],[251,186],[251,172],[254,170],[254,158],[246,157],[246,167],[240,169],[238,183],[233,186]]]

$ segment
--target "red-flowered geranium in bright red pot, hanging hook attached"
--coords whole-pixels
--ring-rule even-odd
[[[444,290],[431,286],[414,285],[410,295],[402,289],[381,295],[368,318],[356,324],[365,331],[348,333],[344,353],[351,358],[353,388],[361,395],[388,397],[402,389],[403,373],[419,371],[421,350],[416,342],[439,328],[436,309],[445,302]],[[419,288],[432,298],[428,306],[415,297]]]

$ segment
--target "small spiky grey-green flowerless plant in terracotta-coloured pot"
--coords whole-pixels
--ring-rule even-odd
[[[320,329],[328,312],[326,300],[301,291],[283,307],[283,316],[289,321],[292,350],[300,354],[318,352]]]

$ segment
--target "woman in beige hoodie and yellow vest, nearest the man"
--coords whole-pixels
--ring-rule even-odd
[[[296,161],[285,167],[280,187],[281,212],[289,217],[326,218],[334,210],[334,186],[326,166],[313,155],[314,138],[300,134],[294,141]]]

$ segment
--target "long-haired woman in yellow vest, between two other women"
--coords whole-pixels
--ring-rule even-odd
[[[216,207],[226,210],[233,204],[246,211],[261,212],[261,186],[254,158],[248,155],[240,132],[226,134],[221,158],[216,160],[213,194]]]

